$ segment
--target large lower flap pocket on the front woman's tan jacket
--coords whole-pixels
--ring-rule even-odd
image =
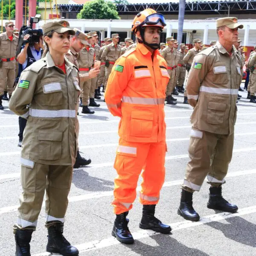
[[[57,160],[61,158],[61,131],[39,130],[38,141],[38,159]]]

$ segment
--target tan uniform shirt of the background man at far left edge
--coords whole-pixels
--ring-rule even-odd
[[[6,32],[0,34],[0,58],[12,58],[16,56],[18,38],[13,35],[12,41]],[[15,68],[16,60],[3,61],[2,67]]]

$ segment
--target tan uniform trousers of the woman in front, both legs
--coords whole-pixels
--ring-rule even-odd
[[[19,217],[14,229],[36,229],[38,215],[46,191],[46,226],[64,222],[72,181],[73,166],[35,163],[33,168],[21,166]],[[51,221],[51,223],[47,223]]]

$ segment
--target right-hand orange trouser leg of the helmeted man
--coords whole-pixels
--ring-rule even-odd
[[[165,178],[166,142],[151,143],[142,173],[140,202],[157,204]]]

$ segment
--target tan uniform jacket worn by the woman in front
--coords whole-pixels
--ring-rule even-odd
[[[66,58],[65,66],[67,74],[55,66],[48,52],[21,73],[9,108],[28,119],[22,159],[48,165],[75,163],[79,76],[77,68]]]

